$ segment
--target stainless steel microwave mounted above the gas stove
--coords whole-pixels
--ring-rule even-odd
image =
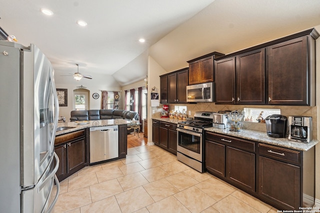
[[[214,82],[186,86],[187,102],[214,102]]]

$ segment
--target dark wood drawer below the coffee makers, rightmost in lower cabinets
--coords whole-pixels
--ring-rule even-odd
[[[259,154],[288,163],[300,164],[300,152],[294,150],[259,144]]]

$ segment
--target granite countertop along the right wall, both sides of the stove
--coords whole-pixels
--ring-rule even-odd
[[[173,123],[173,124],[178,124],[179,122],[182,121],[182,120],[173,119],[173,118],[154,117],[152,119]],[[266,132],[260,132],[260,131],[254,131],[254,130],[248,130],[248,129],[242,129],[240,132],[232,132],[232,131],[229,131],[228,129],[218,129],[214,127],[207,127],[207,128],[204,128],[204,130],[207,132],[218,133],[221,135],[247,139],[255,142],[261,142],[265,144],[275,145],[275,146],[299,150],[299,151],[307,151],[319,142],[318,140],[312,140],[310,143],[301,143],[301,142],[289,141],[287,138],[271,138],[266,135]]]

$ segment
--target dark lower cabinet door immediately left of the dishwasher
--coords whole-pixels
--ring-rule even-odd
[[[74,173],[85,164],[85,139],[67,143],[68,173]]]

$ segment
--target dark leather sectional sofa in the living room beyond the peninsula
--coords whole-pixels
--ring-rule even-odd
[[[139,114],[134,111],[119,109],[90,109],[71,111],[70,121],[105,120],[105,119],[126,119],[138,120]]]

